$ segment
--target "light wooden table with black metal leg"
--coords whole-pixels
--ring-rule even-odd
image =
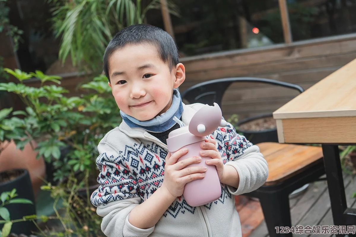
[[[322,145],[334,225],[355,225],[337,145],[356,144],[356,59],[277,109],[273,118],[279,142]]]

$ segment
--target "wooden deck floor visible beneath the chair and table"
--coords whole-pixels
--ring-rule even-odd
[[[348,207],[356,207],[356,199],[352,198],[356,192],[355,178],[344,174],[344,185]],[[302,226],[329,226],[333,225],[330,210],[330,199],[326,181],[311,183],[308,189],[299,196],[290,199],[290,213],[292,225]],[[258,201],[240,196],[240,204],[236,206],[240,214],[243,237],[268,237],[266,223],[263,219],[262,209]],[[334,235],[306,235],[293,236],[330,237]]]

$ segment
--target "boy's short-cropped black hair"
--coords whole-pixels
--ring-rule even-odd
[[[105,49],[103,56],[104,72],[109,77],[109,59],[118,49],[127,44],[148,43],[156,46],[162,61],[172,70],[179,63],[178,49],[173,38],[163,29],[147,24],[136,24],[117,32]]]

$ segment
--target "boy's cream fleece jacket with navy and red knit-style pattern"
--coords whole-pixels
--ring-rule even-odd
[[[194,113],[204,106],[183,104],[182,122],[188,125]],[[258,146],[236,133],[227,123],[210,135],[216,140],[225,165],[239,173],[239,187],[221,184],[218,200],[198,207],[177,198],[155,226],[137,228],[128,221],[130,211],[157,190],[164,178],[167,145],[144,129],[130,128],[125,122],[109,131],[98,145],[96,165],[100,187],[91,195],[96,212],[103,217],[101,228],[108,237],[240,237],[241,224],[234,195],[251,192],[268,176],[267,162]]]

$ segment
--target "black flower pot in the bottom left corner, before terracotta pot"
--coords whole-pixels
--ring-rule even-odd
[[[12,203],[5,207],[10,212],[10,219],[22,219],[23,216],[36,215],[35,195],[33,194],[30,175],[27,169],[10,169],[0,172],[0,194],[11,192],[16,189],[18,196],[15,198],[25,198],[31,200],[33,204]],[[0,225],[0,230],[4,225]],[[38,231],[32,221],[21,221],[12,224],[11,233],[31,235]]]

